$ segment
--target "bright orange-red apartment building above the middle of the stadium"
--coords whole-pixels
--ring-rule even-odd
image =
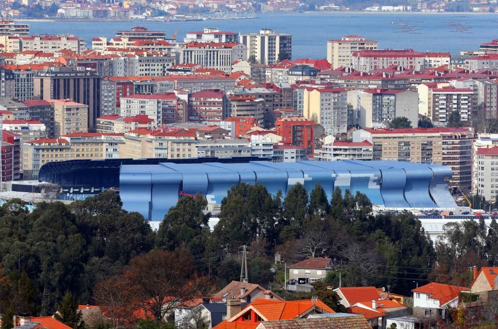
[[[304,116],[281,117],[275,120],[275,132],[282,136],[281,143],[306,148],[313,154],[315,147],[315,122]]]

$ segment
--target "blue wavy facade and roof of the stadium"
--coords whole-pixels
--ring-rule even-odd
[[[275,195],[301,183],[308,192],[320,184],[330,200],[335,187],[365,193],[373,205],[386,208],[455,208],[448,191],[451,168],[397,161],[298,161],[246,163],[123,164],[120,195],[128,211],[162,220],[181,192],[200,193],[208,203],[221,204],[240,182],[262,184]]]

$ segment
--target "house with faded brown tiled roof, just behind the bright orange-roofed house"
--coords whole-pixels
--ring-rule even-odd
[[[283,301],[283,298],[272,291],[248,282],[232,281],[225,288],[217,292],[213,297],[221,298],[224,302],[238,298],[242,302],[250,303],[255,299],[276,299]]]

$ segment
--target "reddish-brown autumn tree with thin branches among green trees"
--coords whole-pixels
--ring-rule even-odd
[[[135,301],[155,322],[202,294],[205,282],[195,274],[193,262],[184,249],[152,250],[131,259],[125,275],[136,290]]]

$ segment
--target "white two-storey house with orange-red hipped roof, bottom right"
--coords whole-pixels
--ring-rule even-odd
[[[436,316],[446,319],[445,309],[458,306],[460,292],[469,292],[466,287],[430,282],[413,289],[413,315]]]

